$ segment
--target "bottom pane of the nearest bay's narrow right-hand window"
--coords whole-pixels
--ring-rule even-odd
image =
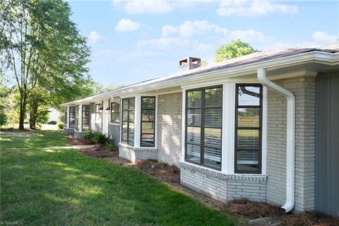
[[[238,170],[258,170],[259,152],[258,151],[238,151],[237,152]]]

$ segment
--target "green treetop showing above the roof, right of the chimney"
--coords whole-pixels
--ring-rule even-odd
[[[258,50],[251,47],[248,43],[241,40],[232,40],[230,44],[222,45],[215,50],[215,62],[221,62],[225,59],[240,57],[254,52],[258,52]]]

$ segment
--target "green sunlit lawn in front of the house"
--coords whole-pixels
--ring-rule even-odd
[[[3,136],[1,148],[62,144],[45,138]],[[6,135],[6,134],[5,134]],[[46,139],[53,141],[47,141]],[[25,142],[30,139],[30,142]],[[65,145],[65,144],[62,144]],[[131,167],[76,150],[2,149],[1,221],[23,225],[234,225],[236,219]]]

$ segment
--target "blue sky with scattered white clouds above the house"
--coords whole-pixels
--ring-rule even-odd
[[[179,59],[213,63],[239,38],[259,50],[338,40],[339,1],[69,1],[91,47],[90,74],[102,85],[177,72]]]

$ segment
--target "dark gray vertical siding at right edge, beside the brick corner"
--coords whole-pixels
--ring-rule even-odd
[[[316,77],[316,210],[339,217],[339,72]]]

